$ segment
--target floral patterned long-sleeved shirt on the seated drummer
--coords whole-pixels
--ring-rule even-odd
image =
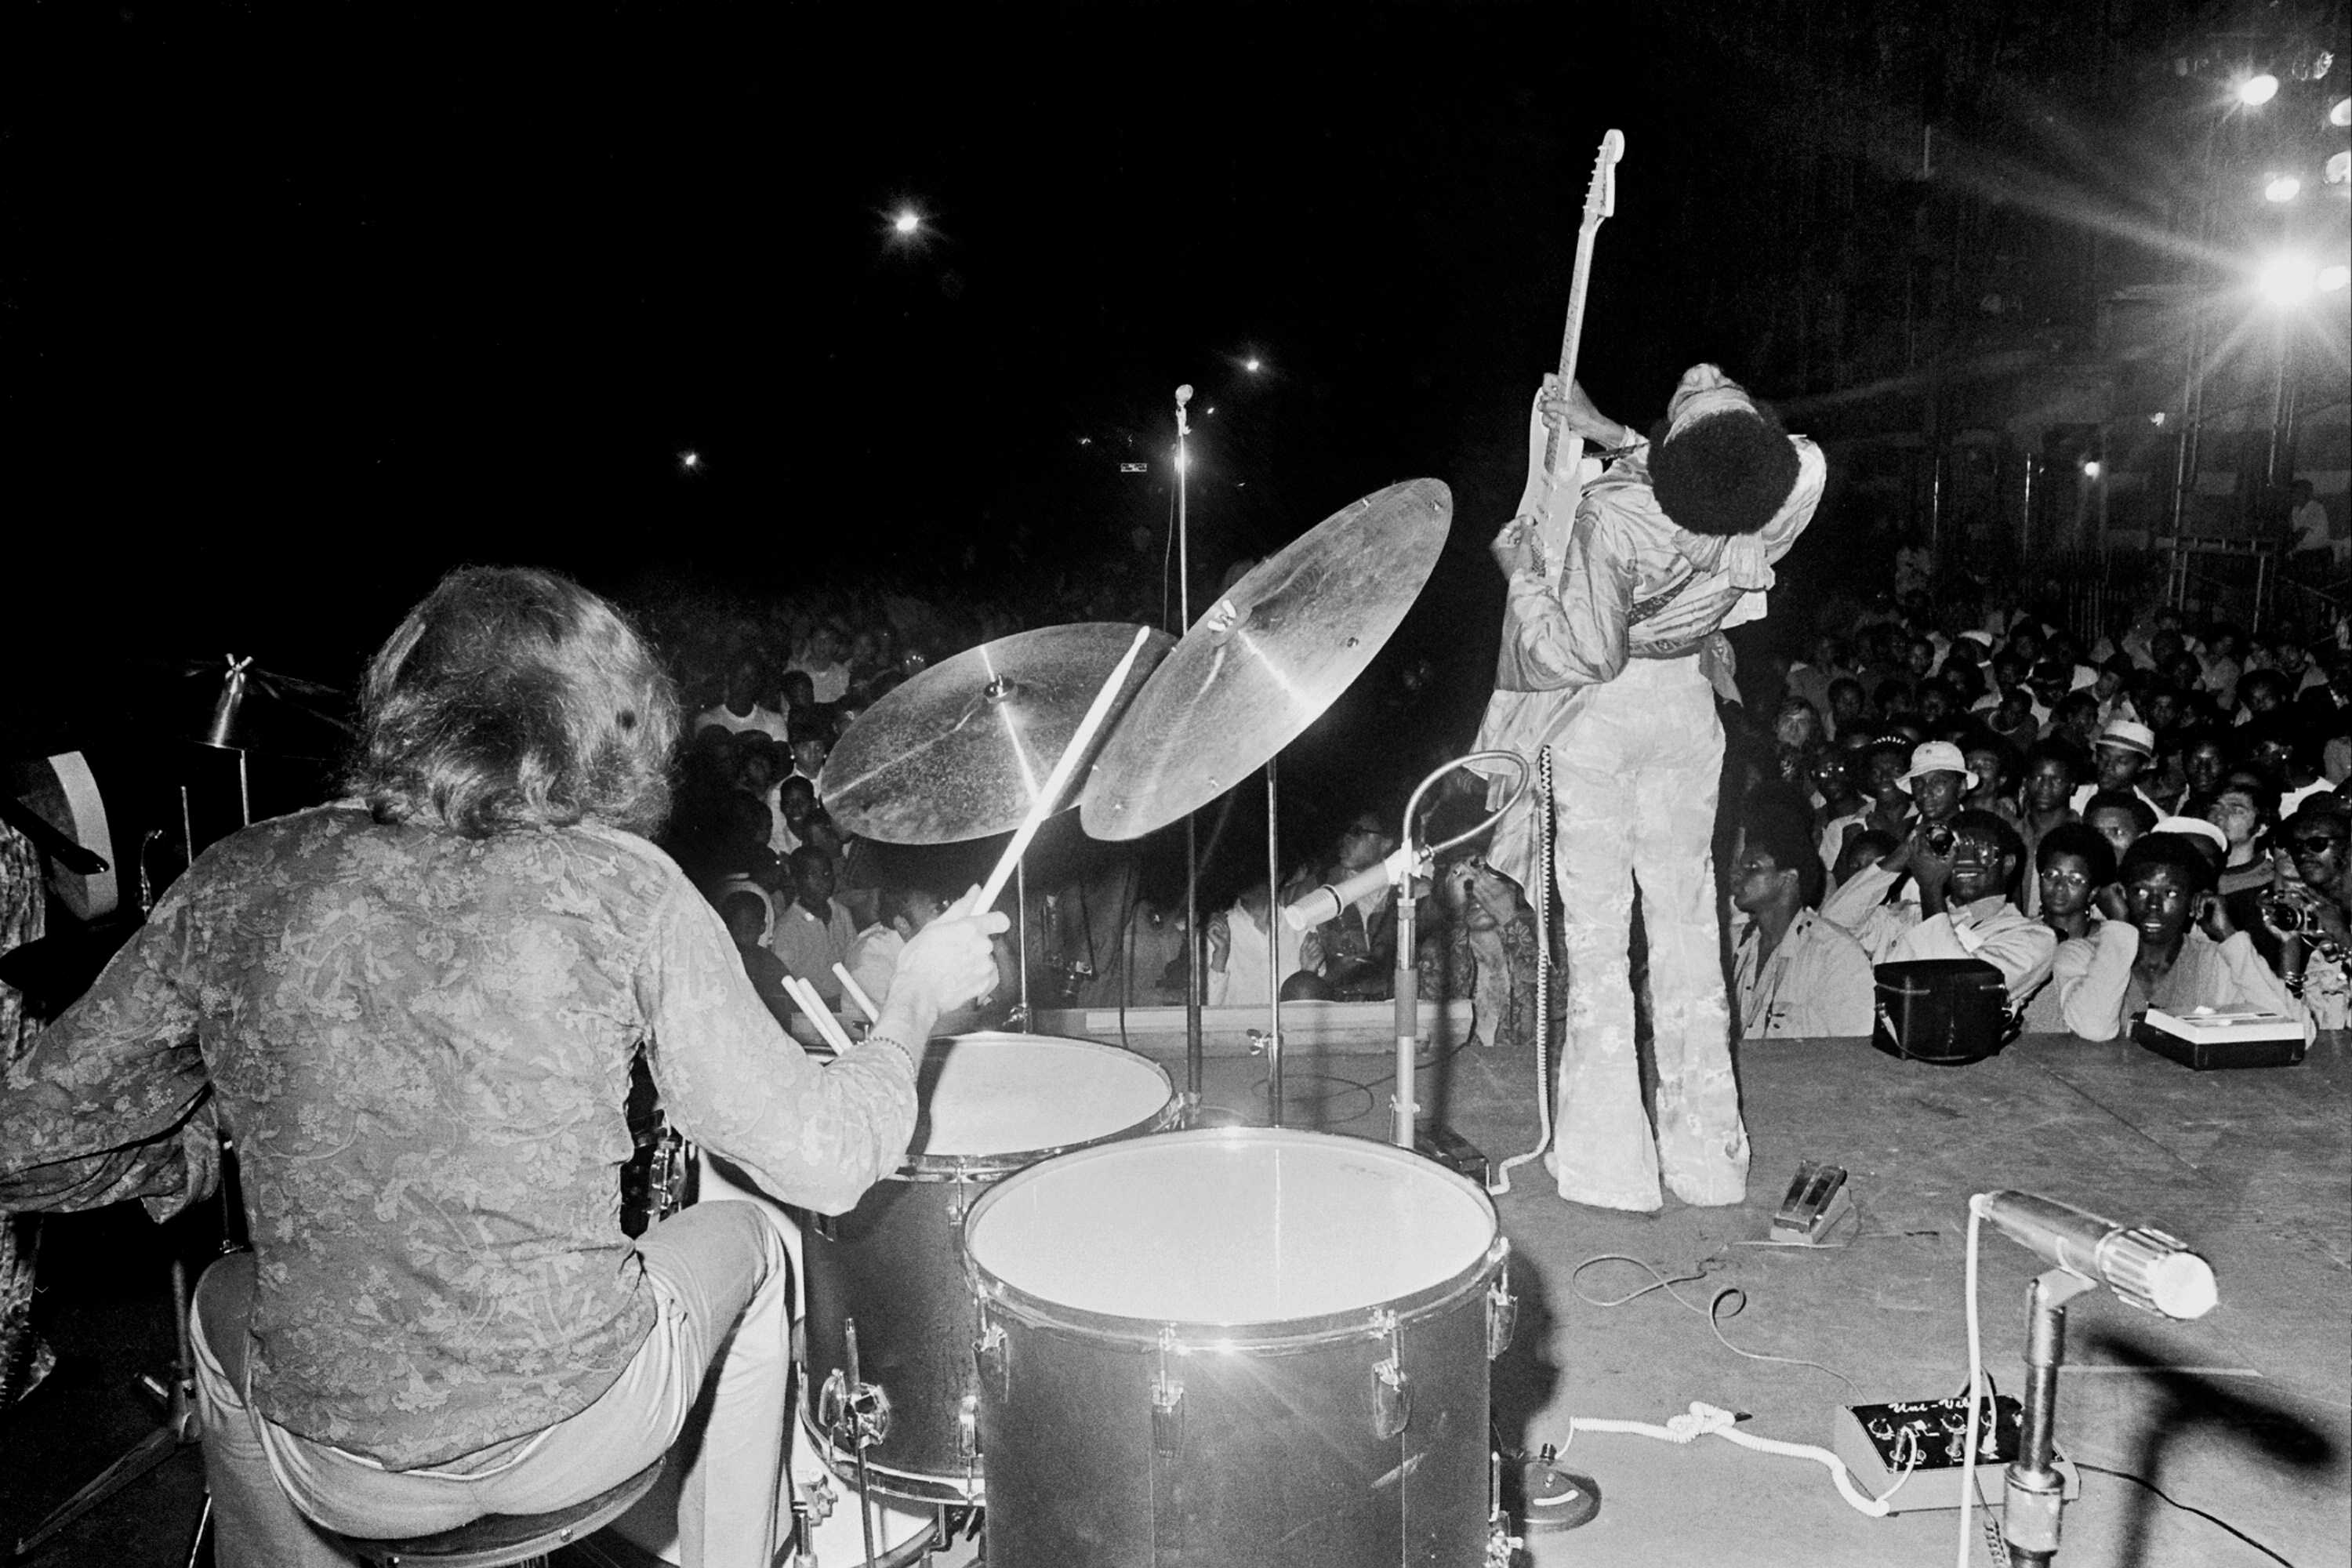
[[[219,1114],[254,1403],[416,1469],[574,1415],[652,1328],[619,1220],[640,1041],[680,1131],[786,1201],[844,1211],[906,1154],[906,1051],[802,1053],[644,839],[301,811],[205,851],[9,1067],[0,1208],[169,1213]]]

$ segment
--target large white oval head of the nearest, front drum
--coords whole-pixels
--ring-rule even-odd
[[[1143,1321],[1279,1324],[1456,1279],[1494,1206],[1362,1138],[1176,1133],[1063,1154],[1000,1182],[964,1251],[1033,1298]]]

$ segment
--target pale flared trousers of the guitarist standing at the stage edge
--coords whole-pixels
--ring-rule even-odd
[[[1569,1027],[1559,1070],[1559,1194],[1658,1208],[1748,1197],[1748,1128],[1731,1077],[1715,907],[1715,795],[1724,731],[1698,658],[1635,658],[1583,693],[1552,743]],[[1658,1131],[1642,1114],[1628,924],[1635,879],[1649,938]]]

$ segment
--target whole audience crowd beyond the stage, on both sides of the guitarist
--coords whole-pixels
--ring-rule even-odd
[[[1748,705],[1724,708],[1719,863],[1738,1032],[1865,1034],[1872,969],[1933,957],[1992,964],[2030,1030],[2110,1039],[2147,1006],[2340,1027],[2352,1006],[2352,797],[2338,795],[2352,778],[2347,637],[2251,637],[2169,609],[2089,632],[2006,602],[1931,599],[1917,574],[1905,588],[1825,616],[1795,663],[1752,661]],[[699,616],[675,642],[696,729],[668,849],[727,914],[779,1016],[793,1011],[783,976],[854,1011],[835,964],[880,1001],[896,950],[960,891],[913,884],[903,858],[889,867],[828,818],[818,778],[835,738],[929,663],[1070,609],[941,611],[863,595]],[[1284,903],[1395,849],[1383,795],[1367,780],[1362,811],[1312,835],[1324,842],[1284,872]],[[1439,799],[1475,813],[1475,802]],[[1033,886],[978,1020],[1004,1020],[1023,990],[1037,1009],[1183,1001],[1195,943],[1181,886],[1145,889],[1136,865],[1105,849]],[[1395,994],[1390,889],[1294,933],[1263,879],[1230,882],[1211,875],[1202,889],[1211,1006],[1254,1006],[1277,987],[1287,999]],[[1414,891],[1421,994],[1468,1001],[1468,1039],[1529,1039],[1538,938],[1526,896],[1475,851],[1446,856]],[[1555,1016],[1564,992],[1559,976]]]

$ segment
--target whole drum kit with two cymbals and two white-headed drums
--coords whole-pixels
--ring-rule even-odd
[[[842,736],[826,809],[898,844],[1014,830],[990,889],[1068,802],[1094,837],[1176,823],[1371,663],[1449,512],[1432,480],[1383,489],[1174,642],[1065,625],[960,654]],[[1359,1138],[1183,1131],[1157,1063],[1084,1039],[934,1039],[917,1093],[898,1171],[788,1225],[804,1561],[929,1561],[981,1530],[990,1568],[1510,1559],[1486,1385],[1510,1248],[1484,1187]],[[769,1201],[699,1168],[696,1201]],[[619,1533],[675,1561],[673,1514],[649,1497]]]

